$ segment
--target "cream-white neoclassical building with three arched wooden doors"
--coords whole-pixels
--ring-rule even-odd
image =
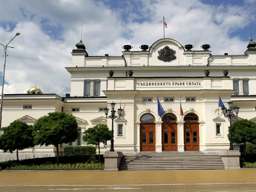
[[[71,74],[70,94],[45,94],[36,87],[28,94],[5,94],[3,126],[15,119],[33,124],[49,112],[63,111],[75,116],[79,124],[78,141],[68,145],[85,145],[85,129],[98,123],[111,128],[112,120],[103,108],[115,102],[116,109],[120,103],[123,109],[121,118],[114,120],[115,151],[219,153],[229,148],[229,119],[218,107],[219,96],[226,107],[229,100],[240,107],[233,121],[256,121],[255,46],[251,40],[241,55],[212,55],[209,45],[191,50],[192,45],[160,39],[150,47],[142,45],[140,51],[125,45],[120,56],[95,57],[89,56],[80,41],[71,53],[72,66],[66,68]],[[164,109],[161,117],[158,99]],[[100,147],[109,150],[110,142]],[[35,147],[19,154],[23,158],[51,156],[55,149]],[[2,155],[2,160],[7,156]]]

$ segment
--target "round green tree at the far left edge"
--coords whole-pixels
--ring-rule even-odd
[[[5,132],[0,136],[0,149],[5,153],[16,150],[17,160],[19,160],[18,150],[34,147],[32,125],[15,120],[2,130]]]

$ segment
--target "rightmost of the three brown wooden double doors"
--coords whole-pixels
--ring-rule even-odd
[[[197,121],[184,123],[184,150],[199,151],[199,123]]]

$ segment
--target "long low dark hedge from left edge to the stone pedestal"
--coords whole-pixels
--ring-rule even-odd
[[[63,164],[75,164],[75,163],[98,163],[98,155],[75,155],[75,156],[60,156],[59,163]],[[34,159],[23,159],[23,160],[9,160],[0,162],[2,169],[19,167],[21,166],[30,166],[30,165],[42,165],[42,164],[56,164],[56,157],[43,157],[43,158],[34,158]],[[104,163],[104,156],[100,155],[100,163]]]

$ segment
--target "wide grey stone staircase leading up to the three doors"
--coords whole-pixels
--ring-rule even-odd
[[[209,170],[225,169],[219,155],[191,152],[139,152],[123,155],[119,170]]]

